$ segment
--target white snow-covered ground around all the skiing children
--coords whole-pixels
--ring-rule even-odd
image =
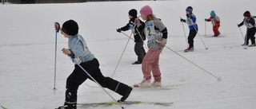
[[[256,48],[244,49],[237,27],[242,14],[256,14],[254,0],[182,0],[150,2],[86,2],[72,4],[0,5],[0,105],[10,109],[50,109],[64,102],[66,77],[74,66],[61,52],[67,39],[58,33],[57,80],[54,94],[54,21],[61,24],[69,19],[78,22],[79,33],[85,37],[90,50],[98,58],[105,76],[112,76],[125,48],[127,37],[115,29],[126,25],[130,9],[140,10],[150,5],[154,14],[166,25],[169,35],[166,46],[198,64],[214,76],[194,66],[169,49],[160,57],[162,85],[170,90],[134,89],[127,100],[174,102],[171,107],[129,105],[127,109],[254,109],[256,107]],[[199,36],[195,37],[193,53],[186,49],[182,24],[186,6],[194,7],[198,18]],[[215,10],[221,18],[221,37],[212,36],[212,25],[204,18]],[[246,34],[246,27],[242,26]],[[188,34],[187,25],[185,25]],[[130,31],[126,34],[130,35]],[[136,60],[134,42],[130,41],[118,65],[114,79],[126,84],[142,80],[141,65]],[[109,91],[109,90],[107,90]],[[121,96],[109,91],[115,99]],[[78,90],[78,103],[112,101],[97,84],[90,80]],[[94,109],[118,109],[88,107]]]

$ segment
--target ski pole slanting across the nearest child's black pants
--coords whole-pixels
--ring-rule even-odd
[[[80,64],[78,64],[78,62],[77,62],[76,60],[74,60],[74,58],[72,58],[72,57],[70,57],[70,58],[71,58],[71,60],[74,62],[74,64],[77,64],[78,67],[81,68],[82,71],[85,72],[86,75],[89,76],[91,80],[94,80],[94,82],[95,82],[96,84],[98,84],[98,86],[99,86],[100,88],[102,88],[102,90],[105,91],[106,94],[109,95],[109,96],[114,100],[114,102],[117,102],[117,103],[118,103],[118,101],[117,101],[116,99],[114,99],[114,97],[113,97],[112,95],[110,95],[110,93],[107,92],[106,89],[103,88],[102,85],[99,84],[98,81],[95,80],[93,76],[90,76],[90,73],[89,73],[89,72],[86,72],[86,70],[85,70],[84,68],[82,68],[82,66],[81,66]],[[122,107],[121,103],[118,103],[118,106],[120,106],[122,109],[124,109],[124,107]]]

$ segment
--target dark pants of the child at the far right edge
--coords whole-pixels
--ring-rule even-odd
[[[256,28],[252,28],[252,29],[247,29],[246,30],[246,37],[245,37],[245,44],[248,45],[249,44],[249,40],[251,41],[251,44],[255,44],[255,32],[256,32]]]

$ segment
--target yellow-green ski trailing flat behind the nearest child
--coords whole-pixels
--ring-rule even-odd
[[[125,102],[98,102],[98,103],[78,103],[79,107],[97,107],[101,105],[131,105],[131,104],[151,104],[151,105],[161,105],[161,106],[171,106],[174,102],[148,102],[148,101],[125,101]]]

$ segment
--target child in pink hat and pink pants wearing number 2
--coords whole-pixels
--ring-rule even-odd
[[[144,32],[148,40],[147,46],[149,50],[142,61],[143,80],[139,84],[134,84],[134,87],[161,87],[162,77],[158,62],[162,49],[166,45],[167,29],[159,18],[155,18],[150,6],[143,6],[140,14],[142,19],[146,21]],[[138,27],[142,26],[138,18],[136,25]],[[154,82],[152,83],[151,72],[154,76]]]

